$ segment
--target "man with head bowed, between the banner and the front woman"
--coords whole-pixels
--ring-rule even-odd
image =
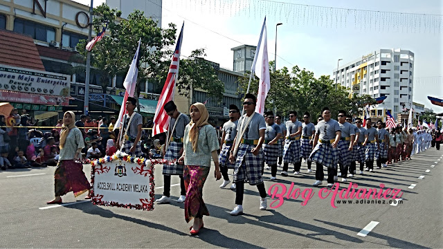
[[[181,154],[183,154],[183,136],[185,136],[186,125],[189,124],[189,118],[183,113],[177,110],[177,106],[173,101],[165,104],[166,113],[170,116],[169,124],[169,138],[168,144],[165,145],[166,151],[165,160],[179,159]],[[178,203],[183,203],[186,200],[186,187],[183,181],[183,165],[178,163],[169,164],[165,163],[163,165],[163,196],[156,200],[156,203],[170,203],[170,190],[171,190],[171,176],[178,175],[180,177],[180,197],[177,200]]]

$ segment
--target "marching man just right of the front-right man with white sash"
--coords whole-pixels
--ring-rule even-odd
[[[341,130],[341,138],[338,141],[338,165],[340,165],[341,181],[345,182],[352,160],[355,131],[352,124],[346,122],[346,112],[343,110],[338,111],[338,126]]]

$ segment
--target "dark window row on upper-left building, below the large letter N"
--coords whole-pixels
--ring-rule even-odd
[[[42,42],[55,41],[55,29],[42,24],[36,24],[33,21],[23,19],[14,20],[14,31],[17,33],[30,35],[33,39]]]

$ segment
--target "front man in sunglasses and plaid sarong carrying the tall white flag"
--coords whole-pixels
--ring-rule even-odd
[[[255,112],[257,98],[251,93],[244,96],[243,107],[246,112],[239,119],[237,136],[234,139],[234,147],[230,150],[229,160],[235,162],[234,183],[237,184],[235,192],[235,204],[237,206],[230,215],[243,213],[244,182],[256,185],[260,193],[260,210],[266,210],[266,190],[262,178],[262,144],[266,122],[263,116]]]

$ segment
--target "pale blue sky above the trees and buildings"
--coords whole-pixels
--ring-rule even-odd
[[[90,3],[89,0],[75,1],[85,5]],[[257,0],[251,1],[257,3]],[[105,0],[95,0],[94,6],[103,2]],[[221,6],[214,6],[214,1],[210,5],[210,2],[208,0],[163,0],[162,25],[165,27],[172,22],[180,27],[181,23],[185,21],[182,54],[189,55],[191,50],[206,48],[207,59],[219,63],[224,68],[232,69],[233,51],[230,48],[241,44],[257,44],[264,13],[262,12],[260,15],[253,8],[249,10],[247,8],[248,1],[244,0],[215,1],[226,3],[224,12],[221,12]],[[240,4],[233,8],[234,12],[231,14],[227,6],[228,3],[235,2]],[[284,2],[333,8],[443,15],[440,0],[285,0]],[[319,24],[315,21],[314,24],[302,24],[302,12],[297,8],[293,8],[291,16],[287,17],[280,14],[284,13],[284,10],[280,9],[282,5],[273,4],[271,6],[273,6],[273,10],[267,13],[269,59],[274,57],[275,24],[283,23],[278,27],[277,54],[279,57],[277,58],[277,68],[282,66],[291,68],[293,65],[298,65],[300,68],[313,71],[318,77],[330,75],[336,68],[339,58],[343,59],[341,63],[347,63],[379,48],[411,50],[415,53],[414,74],[415,77],[419,77],[418,80],[415,80],[413,100],[425,104],[426,107],[432,108],[436,112],[443,112],[443,108],[432,105],[426,98],[427,95],[443,98],[443,80],[440,77],[443,75],[442,33],[406,33],[401,29],[392,30],[392,26],[395,24],[391,26],[389,31],[387,28],[384,30],[374,29],[374,24],[370,29],[368,22],[374,21],[375,17],[372,15],[370,18],[369,14],[365,21],[364,16],[361,16],[360,19],[363,20],[361,27],[355,27],[354,22],[351,23],[348,20],[346,28],[340,27],[340,25],[336,27],[335,23],[329,24],[326,28],[325,24],[320,25],[320,21]],[[255,6],[256,9],[257,6]],[[240,10],[240,13],[234,14],[235,10]],[[293,15],[300,16],[298,24],[296,19],[293,19]],[[314,13],[314,15],[320,17],[320,14]],[[338,15],[338,17],[340,16]],[[335,15],[333,19],[335,19]],[[379,21],[382,20],[379,19]],[[397,20],[392,19],[391,21],[395,23]],[[363,25],[364,23],[367,25]]]

